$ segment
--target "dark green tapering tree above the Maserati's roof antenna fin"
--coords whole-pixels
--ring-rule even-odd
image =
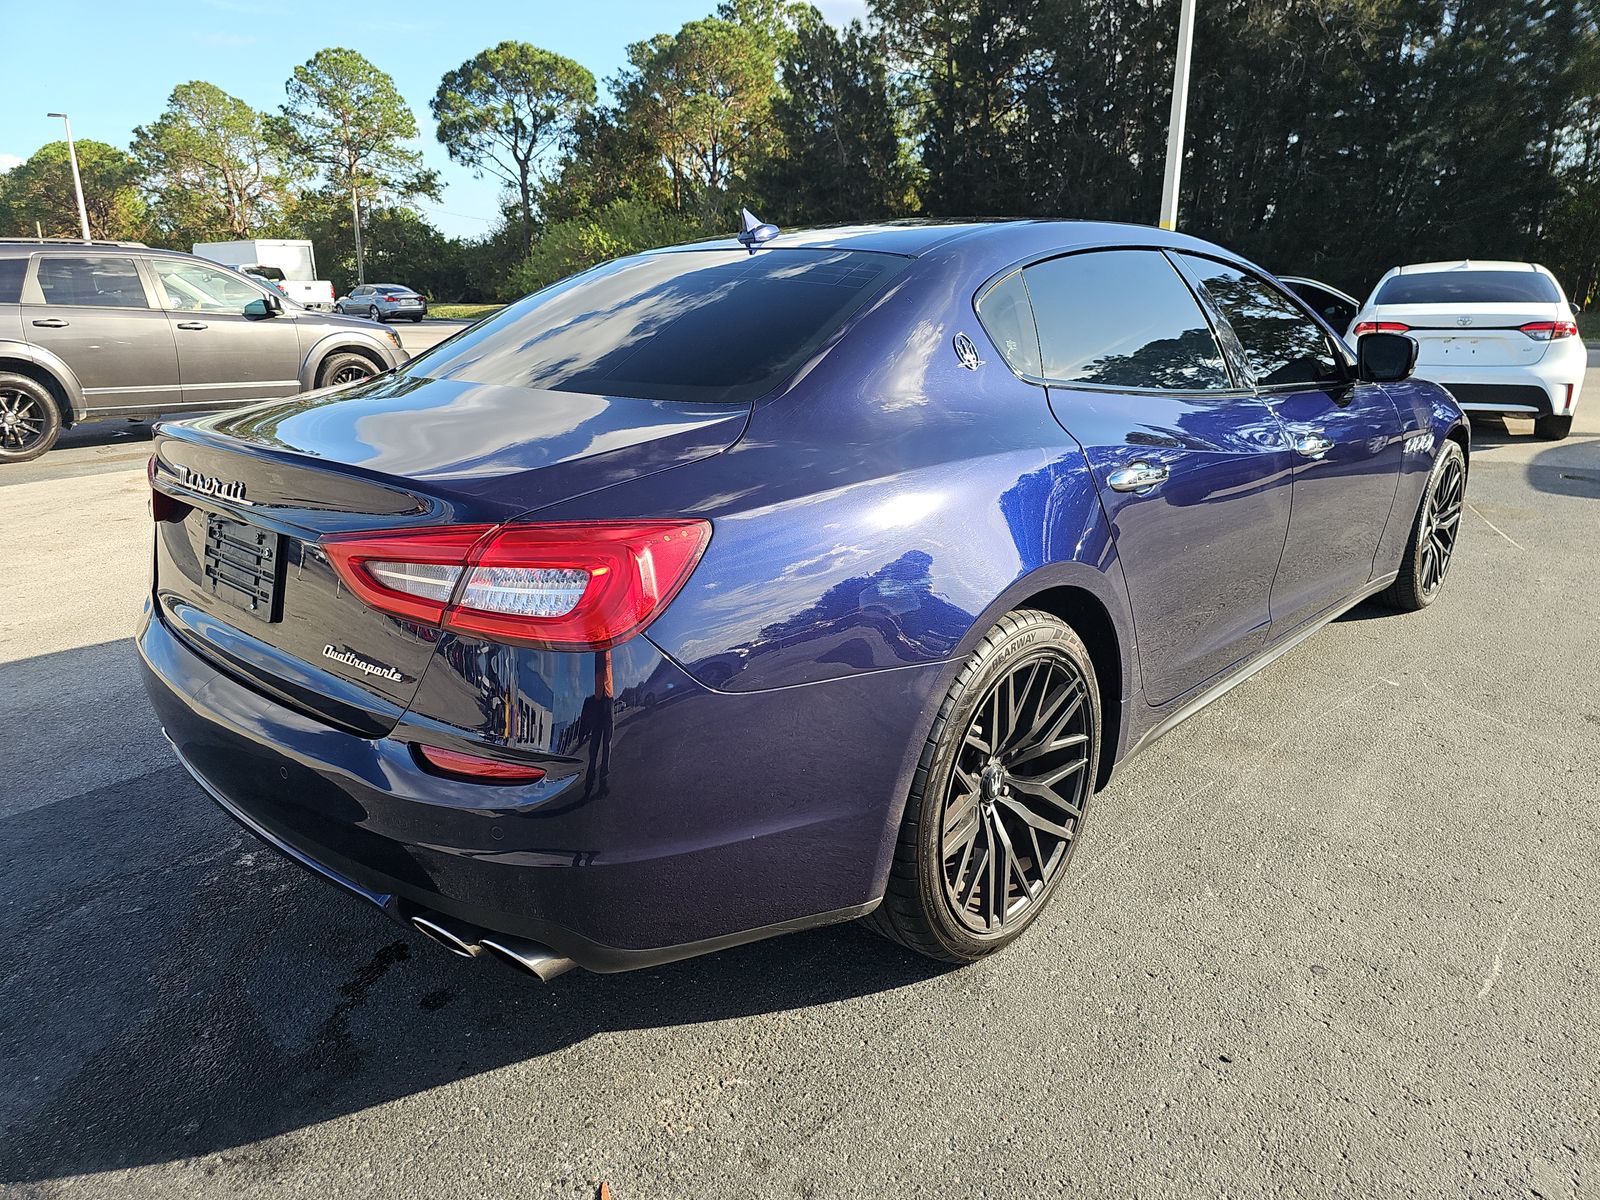
[[[774,144],[754,173],[760,214],[784,224],[912,211],[915,170],[890,102],[888,69],[859,22],[835,30],[803,10],[773,101]]]

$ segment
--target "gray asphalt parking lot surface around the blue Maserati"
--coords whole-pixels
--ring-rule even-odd
[[[1568,442],[1477,429],[1437,605],[1128,763],[1000,958],[842,926],[549,987],[171,760],[130,643],[147,432],[74,432],[0,470],[0,1194],[1600,1195],[1587,387]]]

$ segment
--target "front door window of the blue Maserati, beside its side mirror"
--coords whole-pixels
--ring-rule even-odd
[[[1227,262],[1181,258],[1238,336],[1256,384],[1288,387],[1344,378],[1328,334],[1282,291]]]

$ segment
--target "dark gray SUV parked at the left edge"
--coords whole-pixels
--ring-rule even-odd
[[[136,243],[0,240],[0,462],[67,426],[232,408],[406,362],[382,325]]]

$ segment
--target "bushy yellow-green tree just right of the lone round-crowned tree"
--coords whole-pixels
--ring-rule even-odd
[[[710,219],[770,144],[770,38],[706,18],[635,42],[627,61],[630,69],[613,82],[621,118],[642,130],[666,163],[674,210]]]

